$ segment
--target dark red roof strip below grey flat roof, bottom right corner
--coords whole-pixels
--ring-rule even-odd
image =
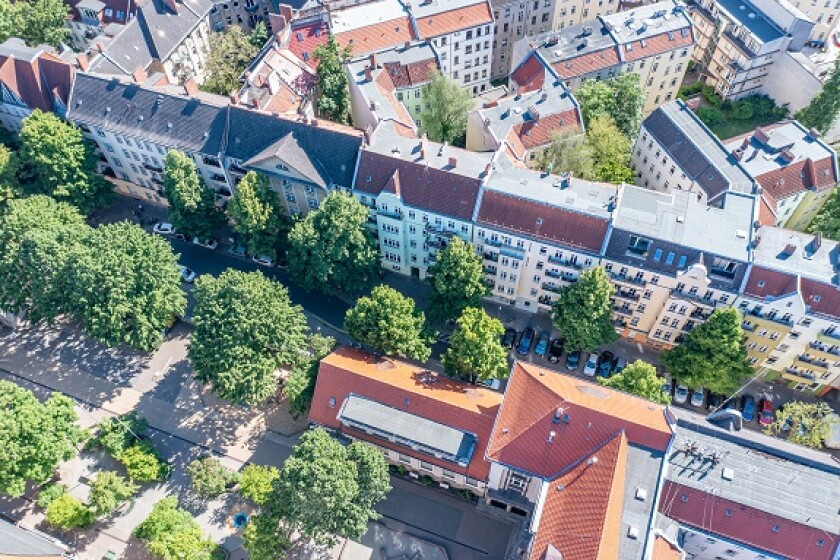
[[[794,560],[829,560],[840,534],[665,481],[659,511],[680,523]],[[775,529],[775,530],[774,530]],[[828,546],[817,546],[823,539]]]

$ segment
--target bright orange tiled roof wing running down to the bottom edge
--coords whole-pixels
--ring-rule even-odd
[[[618,558],[626,470],[627,438],[619,433],[547,483],[530,560],[546,558],[549,547],[563,560]]]

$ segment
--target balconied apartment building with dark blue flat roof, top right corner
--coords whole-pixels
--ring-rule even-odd
[[[773,64],[785,51],[802,50],[814,28],[798,9],[773,0],[698,0],[691,18],[693,60],[725,99],[761,93]]]

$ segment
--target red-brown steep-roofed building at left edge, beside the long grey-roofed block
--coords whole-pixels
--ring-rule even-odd
[[[0,127],[17,133],[32,111],[63,117],[76,68],[46,45],[11,37],[0,44]]]

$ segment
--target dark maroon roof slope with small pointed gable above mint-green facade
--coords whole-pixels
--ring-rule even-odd
[[[420,153],[411,161],[363,150],[355,188],[379,194],[393,177],[400,174],[400,192],[405,204],[461,220],[469,220],[475,208],[481,181],[437,169],[423,163]],[[414,155],[407,157],[414,158]]]

